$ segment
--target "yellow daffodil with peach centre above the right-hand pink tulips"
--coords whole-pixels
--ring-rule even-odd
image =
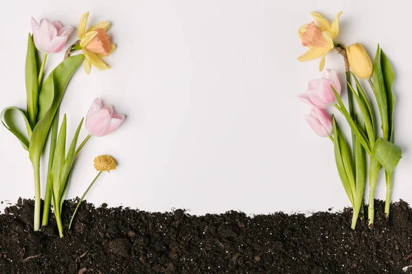
[[[304,55],[299,56],[297,60],[304,62],[322,56],[321,62],[319,62],[319,71],[323,71],[325,56],[334,48],[333,40],[339,34],[339,17],[341,14],[342,12],[339,12],[335,21],[330,24],[321,14],[317,12],[310,13],[318,25],[314,25],[314,22],[312,22],[299,27],[297,34],[302,45],[308,47],[309,50]]]

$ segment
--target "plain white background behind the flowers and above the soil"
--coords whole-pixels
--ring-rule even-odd
[[[333,20],[340,10],[336,40],[361,42],[371,55],[380,42],[396,71],[396,142],[404,158],[393,199],[411,202],[407,1],[0,0],[0,108],[25,108],[30,17],[77,27],[82,13],[90,11],[89,26],[111,21],[117,49],[106,59],[113,69],[93,68],[86,75],[80,68],[71,80],[61,108],[68,115],[69,138],[95,97],[115,105],[127,119],[117,132],[89,141],[67,198],[82,195],[96,173],[93,158],[107,153],[119,166],[89,192],[87,200],[96,205],[186,208],[190,214],[341,210],[350,203],[332,144],[312,132],[303,116],[309,108],[296,99],[308,80],[321,75],[319,61],[297,61],[306,51],[297,29],[312,21],[309,12]],[[77,29],[70,43],[76,35]],[[47,73],[62,57],[49,55]],[[336,52],[325,67],[343,76]],[[81,137],[86,135],[84,128]],[[27,152],[3,127],[0,140],[0,200],[33,197]],[[43,184],[44,178],[45,173]],[[377,197],[385,198],[383,178]]]

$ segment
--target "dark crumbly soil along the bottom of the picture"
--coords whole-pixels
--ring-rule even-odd
[[[75,206],[65,202],[63,220]],[[402,201],[389,221],[376,201],[374,227],[359,222],[355,231],[350,210],[251,218],[104,206],[83,203],[73,229],[65,223],[59,238],[53,219],[32,232],[33,202],[19,200],[0,215],[0,272],[396,274],[412,265],[412,210]]]

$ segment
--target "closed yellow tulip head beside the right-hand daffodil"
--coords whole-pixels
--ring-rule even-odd
[[[352,71],[362,79],[369,79],[374,72],[371,58],[361,44],[352,44],[346,48],[347,59]]]

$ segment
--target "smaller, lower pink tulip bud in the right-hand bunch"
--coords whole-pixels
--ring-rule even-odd
[[[333,132],[333,122],[325,110],[312,108],[309,115],[305,115],[306,122],[319,137],[328,137]]]

